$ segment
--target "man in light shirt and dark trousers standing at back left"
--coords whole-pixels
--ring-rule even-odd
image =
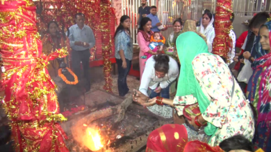
[[[85,15],[75,15],[76,24],[69,28],[69,44],[72,48],[72,69],[81,80],[81,63],[85,78],[85,91],[90,91],[90,48],[95,46],[95,36],[90,26],[85,25]]]

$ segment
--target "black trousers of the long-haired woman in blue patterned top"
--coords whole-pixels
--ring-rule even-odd
[[[117,77],[117,88],[119,89],[119,95],[124,96],[128,93],[129,88],[127,86],[127,75],[131,69],[131,63],[129,59],[126,59],[126,68],[122,68],[122,59],[116,59],[117,62],[117,71],[118,71],[118,77]]]

